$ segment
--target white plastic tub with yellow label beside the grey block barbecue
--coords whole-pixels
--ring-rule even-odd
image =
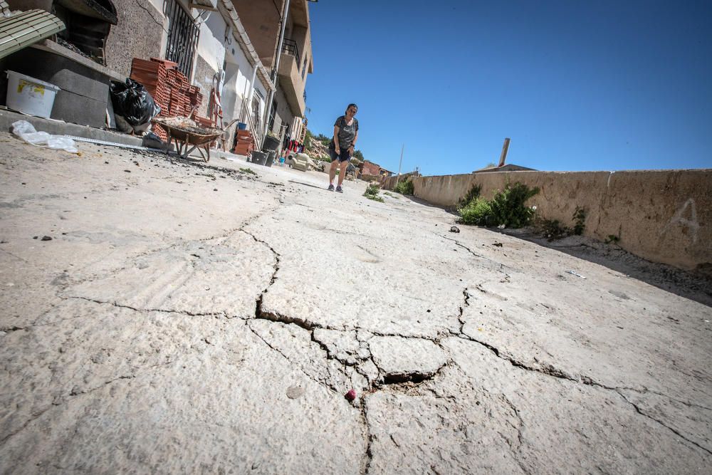
[[[59,90],[56,85],[7,71],[7,106],[11,109],[48,119]]]

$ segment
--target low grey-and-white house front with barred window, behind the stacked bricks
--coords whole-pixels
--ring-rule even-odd
[[[246,122],[261,140],[267,98],[274,87],[230,0],[112,1],[126,21],[112,28],[108,38],[109,68],[129,75],[132,58],[175,61],[204,95],[198,115],[210,115],[214,90],[223,123]],[[139,38],[136,31],[142,32]]]

